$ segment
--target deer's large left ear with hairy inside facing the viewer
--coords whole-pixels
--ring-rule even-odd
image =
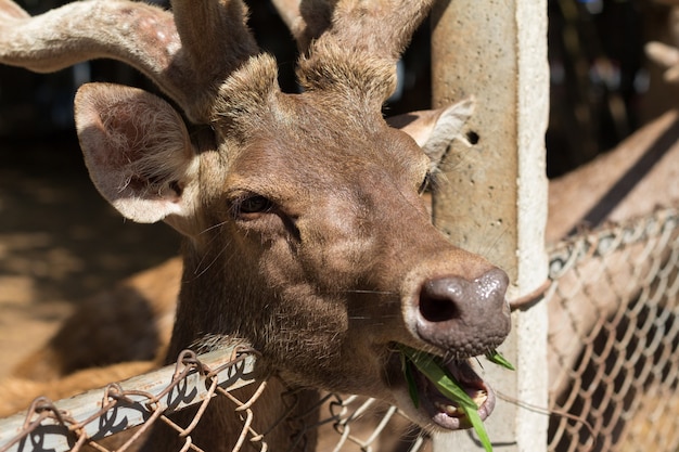
[[[188,188],[196,157],[182,118],[167,102],[136,88],[88,83],[75,106],[90,178],[124,217],[151,223],[193,212],[195,195]]]

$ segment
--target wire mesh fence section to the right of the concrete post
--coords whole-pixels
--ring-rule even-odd
[[[679,214],[552,251],[550,451],[679,449]]]

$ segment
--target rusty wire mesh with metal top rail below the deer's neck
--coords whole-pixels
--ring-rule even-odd
[[[181,448],[177,450],[202,451],[193,442],[192,432],[216,398],[227,400],[232,415],[241,422],[240,435],[223,438],[231,441],[233,452],[281,450],[280,444],[268,444],[264,435],[279,423],[290,431],[291,450],[296,451],[311,450],[311,445],[303,443],[305,434],[311,430],[319,441],[315,450],[425,449],[426,435],[412,427],[396,408],[357,396],[326,393],[313,405],[305,406],[304,415],[295,416],[292,413],[297,393],[284,392],[281,398],[290,408],[287,414],[265,430],[256,430],[255,413],[267,409],[260,399],[271,379],[256,383],[252,378],[255,354],[242,347],[201,357],[184,351],[175,366],[123,384],[57,402],[38,398],[26,413],[0,422],[0,452],[136,451],[158,422],[181,438]],[[187,406],[197,408],[187,425],[171,421],[171,413]]]

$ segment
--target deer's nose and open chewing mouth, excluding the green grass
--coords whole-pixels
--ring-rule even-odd
[[[509,277],[500,269],[483,266],[485,269],[476,273],[481,275],[472,279],[445,273],[424,276],[414,271],[406,280],[411,295],[405,302],[403,314],[408,330],[420,344],[418,349],[423,354],[443,358],[446,372],[476,403],[478,416],[485,419],[495,408],[496,397],[492,388],[474,372],[469,359],[498,347],[509,334],[511,321],[505,300]],[[393,369],[399,365],[395,361],[393,356]],[[415,369],[410,372],[411,382],[406,386],[413,385],[409,391],[415,391],[420,401],[419,404],[405,402],[411,418],[432,430],[472,426],[457,401],[448,399]],[[400,400],[403,399],[401,393]]]

